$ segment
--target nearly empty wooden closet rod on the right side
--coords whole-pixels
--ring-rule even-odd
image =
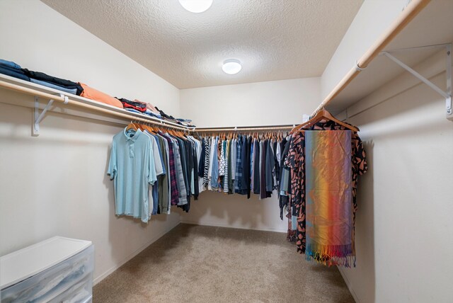
[[[311,116],[316,115],[316,113],[319,112],[319,110],[322,110],[325,108],[328,103],[331,103],[333,98],[338,96],[338,94],[345,89],[348,84],[352,81],[352,79],[357,76],[360,72],[362,72],[363,69],[366,69],[369,62],[372,62],[372,59],[374,57],[377,57],[379,55],[379,52],[381,52],[384,47],[386,47],[391,40],[395,38],[398,33],[403,30],[403,28],[408,25],[409,22],[412,21],[412,19],[420,13],[420,11],[425,8],[430,3],[430,0],[412,0],[406,8],[404,8],[404,11],[396,18],[394,23],[390,25],[390,27],[386,30],[386,32],[372,45],[372,47],[369,47],[367,52],[365,52],[364,55],[356,62],[356,65],[350,69],[348,74],[346,74],[343,79],[340,80],[340,82],[333,88],[331,93],[326,96],[324,101],[314,110],[314,112],[311,114]]]

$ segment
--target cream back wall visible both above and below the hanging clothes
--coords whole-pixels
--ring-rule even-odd
[[[195,125],[284,125],[302,122],[319,104],[319,78],[292,79],[190,88],[180,91],[181,113]],[[194,201],[183,222],[203,225],[286,231],[275,192],[272,198],[247,200],[242,195],[206,192]]]

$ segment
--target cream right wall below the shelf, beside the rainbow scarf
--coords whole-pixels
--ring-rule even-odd
[[[445,89],[445,54],[415,67]],[[369,109],[367,109],[369,108]],[[369,171],[358,191],[359,302],[452,302],[453,122],[445,99],[405,73],[348,109]]]

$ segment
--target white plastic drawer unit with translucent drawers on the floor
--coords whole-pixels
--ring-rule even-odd
[[[0,258],[1,302],[92,301],[91,241],[55,236]]]

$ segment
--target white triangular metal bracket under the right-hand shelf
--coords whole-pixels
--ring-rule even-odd
[[[445,71],[447,73],[447,91],[442,90],[442,88],[439,88],[437,85],[433,84],[430,80],[426,79],[424,76],[419,74],[418,72],[415,72],[414,69],[411,69],[411,67],[408,67],[408,65],[404,64],[400,60],[396,59],[393,55],[391,55],[389,52],[381,52],[382,55],[386,56],[387,58],[391,59],[393,62],[398,64],[400,67],[403,67],[403,69],[406,69],[406,71],[410,72],[413,74],[413,76],[417,77],[420,81],[423,81],[426,85],[430,86],[433,90],[437,91],[442,97],[445,98],[445,113],[447,116],[448,120],[453,120],[453,103],[452,103],[452,45],[451,44],[446,44],[446,45],[430,45],[427,47],[413,47],[413,49],[416,48],[433,48],[433,47],[445,47],[446,49],[446,67]],[[409,50],[409,49],[408,49]]]

